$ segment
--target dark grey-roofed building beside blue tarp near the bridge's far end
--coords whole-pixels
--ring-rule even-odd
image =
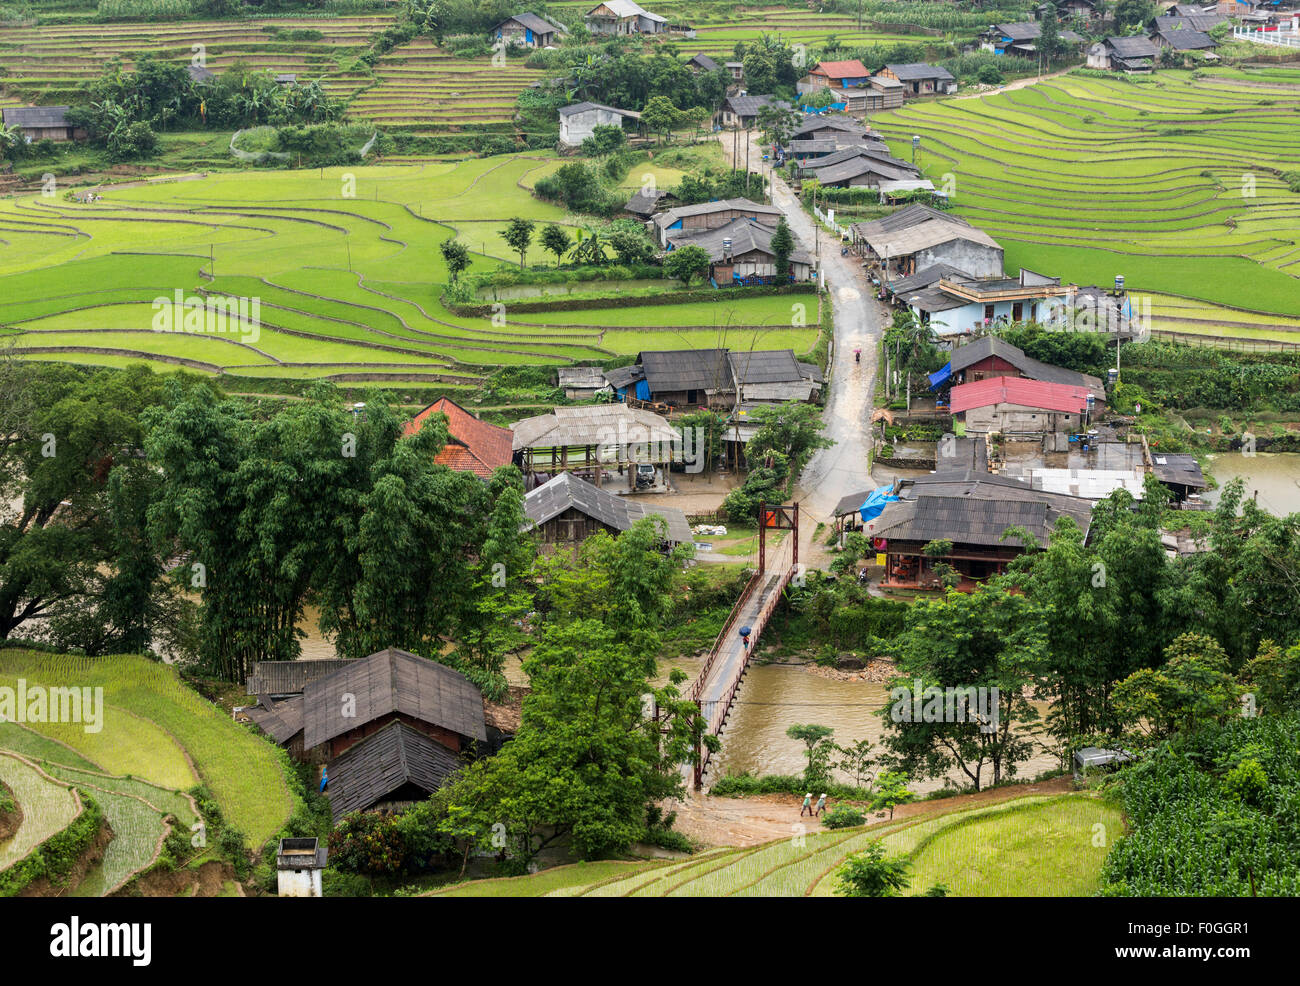
[[[937,563],[957,574],[957,587],[970,592],[1024,552],[1018,537],[1002,535],[1013,527],[1028,531],[1039,546],[1052,542],[1057,519],[1070,516],[1087,539],[1092,503],[1079,497],[1044,493],[1013,479],[987,473],[937,473],[896,484],[897,502],[867,522],[864,533],[885,555],[883,588],[940,589]],[[931,541],[952,541],[942,558],[926,555]]]

